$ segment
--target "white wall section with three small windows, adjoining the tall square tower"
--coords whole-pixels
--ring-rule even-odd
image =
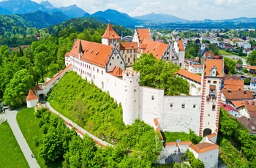
[[[164,110],[159,118],[162,130],[188,133],[192,129],[199,134],[201,101],[201,96],[164,96]]]

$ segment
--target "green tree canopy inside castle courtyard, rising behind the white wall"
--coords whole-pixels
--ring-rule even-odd
[[[180,95],[189,93],[187,80],[176,75],[179,66],[173,62],[157,60],[152,53],[143,53],[132,69],[140,72],[140,85],[162,88],[165,95]]]

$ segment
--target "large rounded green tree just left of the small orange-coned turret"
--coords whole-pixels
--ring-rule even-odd
[[[11,106],[22,104],[29,89],[33,86],[34,79],[28,70],[22,69],[16,72],[4,91],[4,102]]]

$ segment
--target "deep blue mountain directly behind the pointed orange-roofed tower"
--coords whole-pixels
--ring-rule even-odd
[[[92,14],[91,16],[95,18],[105,18],[105,20],[109,20],[110,23],[114,23],[129,28],[134,28],[134,26],[138,26],[138,24],[142,23],[141,20],[132,18],[126,13],[121,13],[113,9],[107,9],[103,12],[98,11]]]

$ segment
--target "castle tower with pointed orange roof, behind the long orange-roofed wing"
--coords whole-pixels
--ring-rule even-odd
[[[113,27],[108,23],[108,27],[105,33],[102,35],[102,45],[114,45],[116,43],[116,47],[119,48],[121,37],[116,34]]]

